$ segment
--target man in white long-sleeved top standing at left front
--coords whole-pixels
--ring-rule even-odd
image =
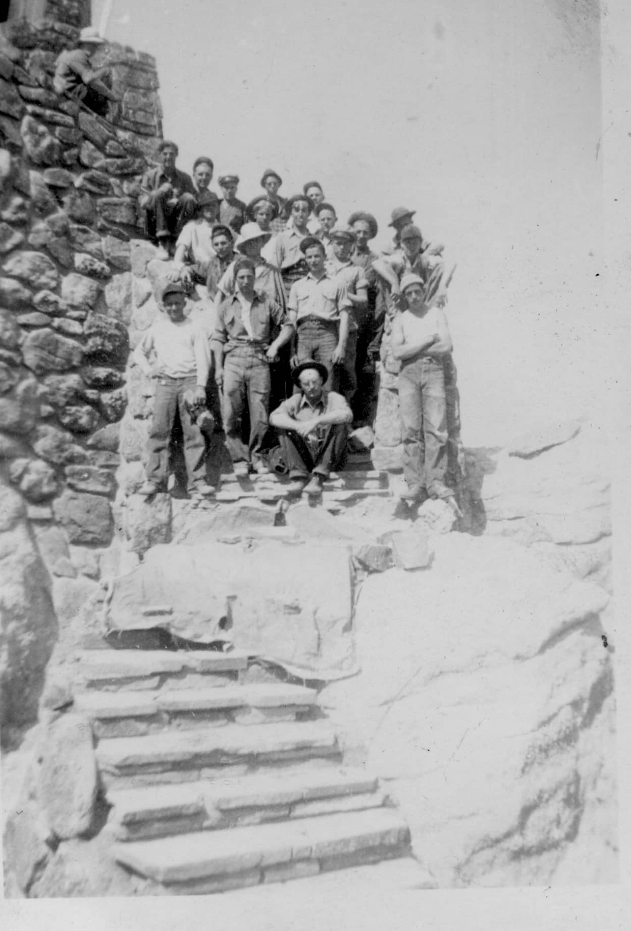
[[[154,415],[147,440],[146,481],[140,494],[167,490],[168,444],[180,412],[188,492],[193,497],[214,494],[206,480],[204,437],[195,423],[206,405],[210,356],[204,331],[184,316],[186,297],[178,282],[162,292],[164,316],[154,321],[134,350],[134,361],[148,378],[155,379]]]

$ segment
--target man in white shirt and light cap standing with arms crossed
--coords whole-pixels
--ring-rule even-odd
[[[403,425],[402,497],[422,503],[427,497],[453,499],[447,472],[447,397],[443,358],[449,355],[450,328],[445,312],[429,300],[420,275],[401,280],[408,309],[395,317],[391,348],[401,362],[399,412]]]

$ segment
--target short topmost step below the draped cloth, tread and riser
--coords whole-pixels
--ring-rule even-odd
[[[106,691],[225,685],[248,668],[240,650],[83,650],[75,659],[79,686]]]

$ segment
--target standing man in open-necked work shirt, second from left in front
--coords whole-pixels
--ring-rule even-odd
[[[285,307],[254,290],[254,282],[254,263],[237,259],[235,292],[220,304],[212,336],[215,380],[223,389],[223,429],[237,478],[248,476],[248,466],[259,474],[267,472],[261,452],[267,432],[270,363],[293,333]],[[248,444],[242,439],[246,399]]]

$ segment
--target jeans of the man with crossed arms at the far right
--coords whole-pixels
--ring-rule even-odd
[[[442,359],[401,363],[398,399],[403,424],[403,475],[409,488],[434,498],[450,494],[447,472],[447,398]]]

